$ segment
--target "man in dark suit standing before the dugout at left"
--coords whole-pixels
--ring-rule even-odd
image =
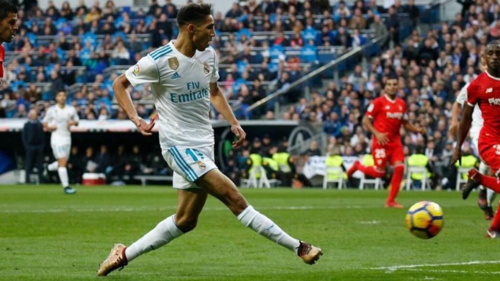
[[[30,174],[33,167],[38,173],[38,180],[42,181],[43,174],[43,148],[45,146],[45,135],[43,126],[38,120],[36,109],[29,110],[29,120],[24,124],[21,132],[22,144],[25,149],[25,181],[31,183]]]

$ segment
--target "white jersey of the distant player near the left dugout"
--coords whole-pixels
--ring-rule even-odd
[[[50,142],[53,143],[60,139],[61,141],[71,137],[71,131],[67,127],[67,122],[69,120],[78,121],[78,113],[71,105],[64,105],[60,108],[59,105],[55,104],[50,106],[43,117],[43,122],[47,123],[49,126],[55,125],[57,128],[52,131],[50,135]]]

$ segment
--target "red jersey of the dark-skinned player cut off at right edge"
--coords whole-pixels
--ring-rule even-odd
[[[479,139],[491,139],[495,143],[500,138],[500,77],[496,78],[487,71],[479,74],[467,87],[467,103],[479,104],[484,123]]]

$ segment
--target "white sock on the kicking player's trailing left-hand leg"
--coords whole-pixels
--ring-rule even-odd
[[[151,231],[147,232],[140,239],[128,246],[125,249],[127,261],[129,262],[143,253],[166,245],[171,240],[184,234],[177,225],[175,225],[174,216],[175,214],[172,214],[163,219],[156,227],[151,229]]]

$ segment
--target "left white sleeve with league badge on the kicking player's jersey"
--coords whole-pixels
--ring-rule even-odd
[[[158,83],[158,66],[151,56],[146,55],[125,71],[125,77],[134,87],[144,83]]]

